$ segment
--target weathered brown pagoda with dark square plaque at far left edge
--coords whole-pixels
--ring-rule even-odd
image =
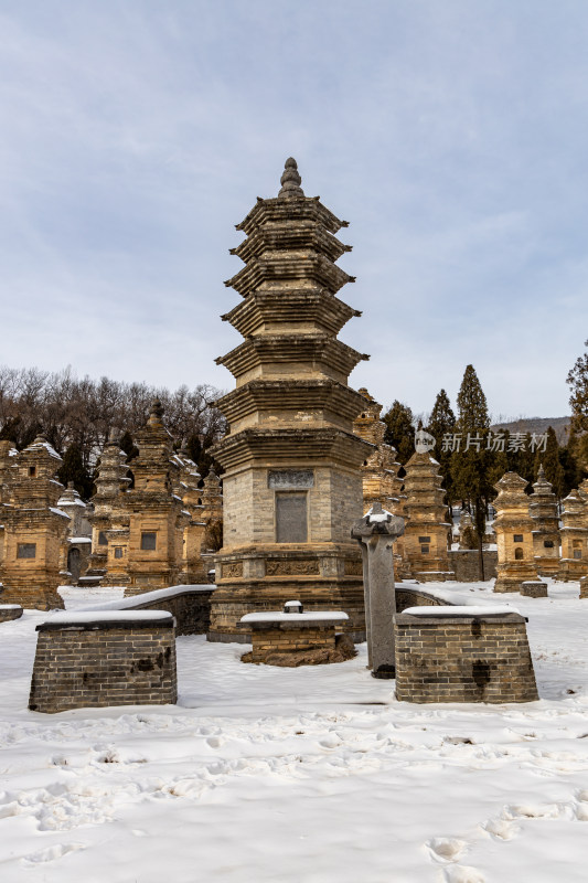
[[[70,517],[57,508],[64,490],[55,479],[61,464],[62,458],[42,435],[14,457],[14,477],[0,506],[4,525],[2,604],[40,610],[63,607],[57,586],[65,576],[61,571]]]

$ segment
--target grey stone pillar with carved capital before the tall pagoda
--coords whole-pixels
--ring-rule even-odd
[[[362,550],[367,662],[374,678],[394,678],[394,564],[392,545],[404,533],[404,520],[375,502],[355,522],[351,535]]]

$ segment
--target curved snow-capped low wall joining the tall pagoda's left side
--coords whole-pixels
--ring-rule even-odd
[[[168,610],[175,617],[175,635],[205,635],[211,625],[211,598],[216,586],[171,586],[107,602],[90,610]]]

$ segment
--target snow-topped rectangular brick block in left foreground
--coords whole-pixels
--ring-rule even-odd
[[[36,630],[31,711],[178,699],[174,620],[167,611],[63,613]]]

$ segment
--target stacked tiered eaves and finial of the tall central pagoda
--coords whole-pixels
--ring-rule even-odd
[[[348,377],[368,357],[336,337],[361,315],[336,296],[355,281],[335,264],[351,251],[335,236],[348,223],[304,195],[291,159],[281,183],[236,225],[246,238],[231,252],[244,266],[225,285],[243,301],[223,319],[245,340],[216,360],[237,381],[217,403],[231,424],[217,457],[231,469],[291,457],[293,445],[301,458],[355,467],[371,446],[353,434],[365,402]]]

